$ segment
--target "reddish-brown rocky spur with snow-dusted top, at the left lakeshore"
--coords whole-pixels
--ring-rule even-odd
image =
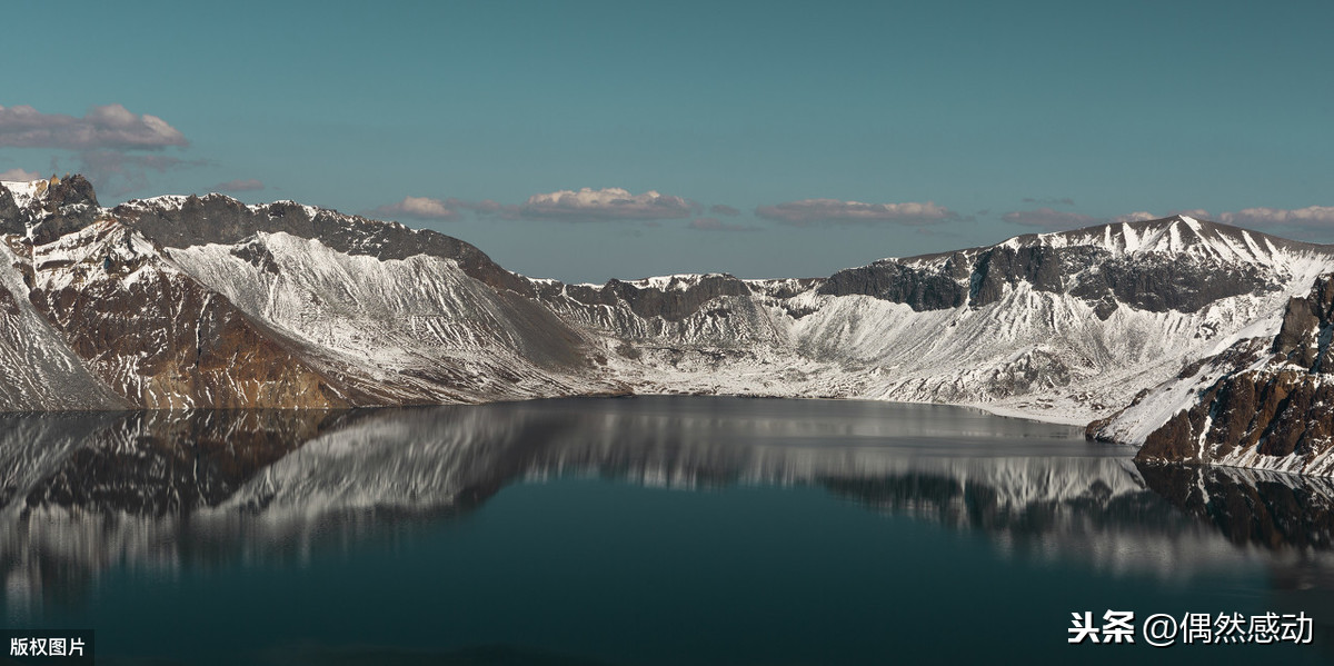
[[[32,306],[129,404],[329,408],[354,394],[115,220],[35,247],[28,270]]]

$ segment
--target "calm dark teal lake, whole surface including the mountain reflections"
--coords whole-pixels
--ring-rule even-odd
[[[727,398],[0,416],[9,629],[99,663],[1323,663],[1334,486]],[[1071,611],[1137,645],[1067,645]],[[1315,643],[1153,649],[1305,613]],[[1014,655],[1014,657],[1011,657]]]

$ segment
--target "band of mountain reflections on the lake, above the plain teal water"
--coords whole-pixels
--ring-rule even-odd
[[[568,399],[364,411],[0,415],[13,610],[116,566],[307,558],[372,529],[578,475],[678,488],[815,486],[1113,573],[1261,557],[1334,589],[1326,479],[1142,467],[1070,427],[940,406]]]

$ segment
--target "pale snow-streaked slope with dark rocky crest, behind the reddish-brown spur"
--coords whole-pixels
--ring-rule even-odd
[[[321,367],[386,392],[378,404],[600,392],[586,336],[531,287],[456,239],[334,211],[157,198],[113,211],[165,238],[199,283],[296,340]],[[208,220],[203,231],[192,220]]]

